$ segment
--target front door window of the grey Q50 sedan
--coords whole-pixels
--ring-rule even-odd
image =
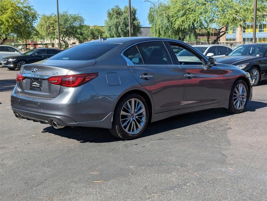
[[[193,52],[180,47],[178,44],[170,44],[172,49],[180,48],[181,52],[176,54],[176,57],[180,65],[201,65],[203,64],[200,58],[195,55]]]

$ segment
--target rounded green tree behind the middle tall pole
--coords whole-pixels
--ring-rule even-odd
[[[141,33],[140,21],[136,17],[136,11],[136,8],[131,6],[131,33],[133,36]],[[119,6],[115,6],[108,10],[105,30],[109,38],[129,36],[129,7],[125,6],[122,10]]]

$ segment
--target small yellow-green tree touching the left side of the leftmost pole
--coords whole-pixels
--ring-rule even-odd
[[[37,38],[41,41],[50,40],[53,43],[57,37],[57,19],[54,13],[50,15],[43,14],[36,26]]]

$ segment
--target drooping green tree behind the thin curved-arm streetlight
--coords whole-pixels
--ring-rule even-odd
[[[170,4],[159,2],[154,9],[150,7],[148,13],[148,21],[151,30],[154,30],[155,17],[155,35],[162,38],[173,38],[183,41],[186,36],[195,38],[195,28],[193,23],[184,22],[183,26],[175,24],[175,14],[171,13]]]

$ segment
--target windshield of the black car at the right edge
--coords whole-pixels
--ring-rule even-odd
[[[235,48],[228,56],[263,56],[266,50],[266,45],[242,45]]]

